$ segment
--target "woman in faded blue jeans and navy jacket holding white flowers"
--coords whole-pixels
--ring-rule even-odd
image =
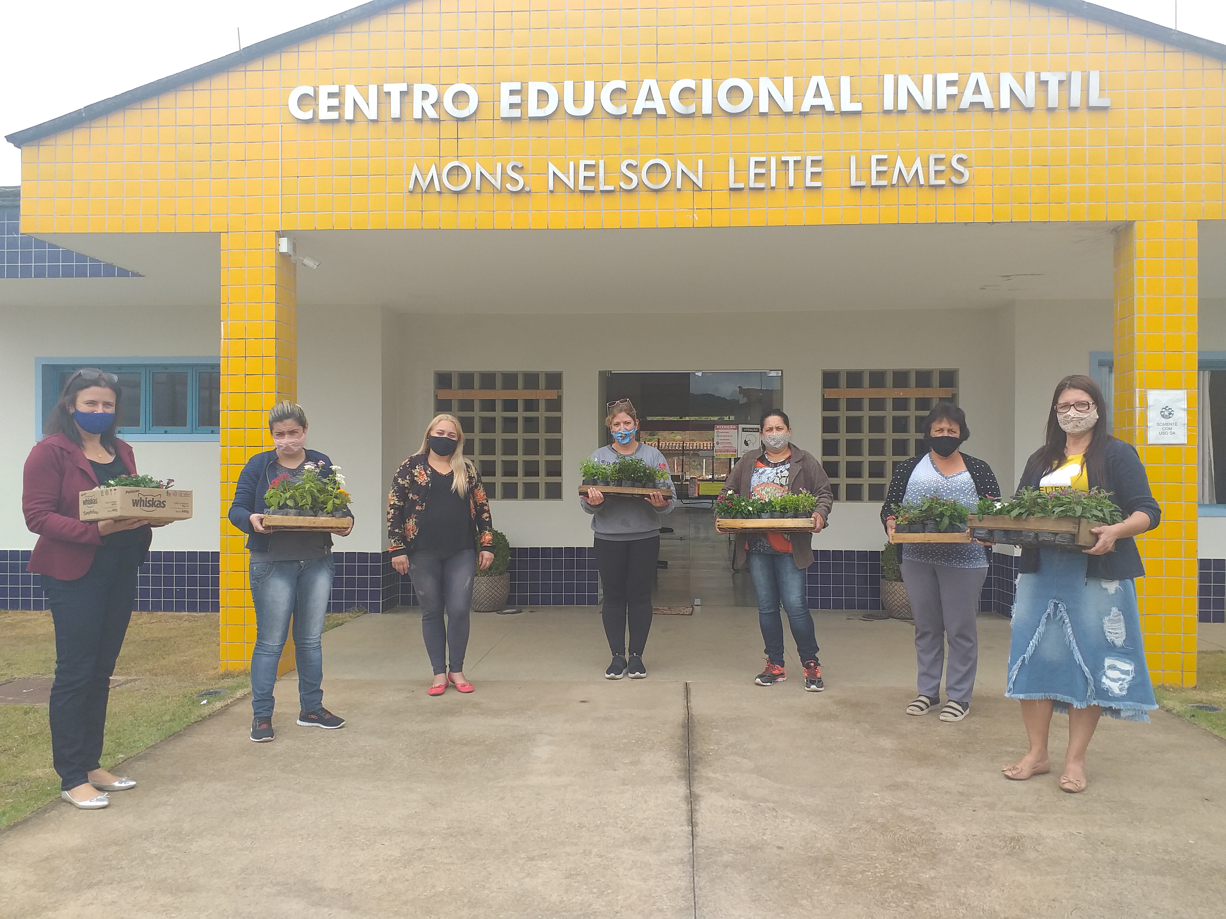
[[[264,526],[267,506],[264,495],[281,475],[300,477],[308,467],[330,471],[332,461],[306,450],[306,413],[293,402],[278,402],[268,412],[273,450],[256,453],[239,473],[229,520],[248,534],[251,553],[251,599],[255,602],[255,647],[251,651],[251,740],[273,739],[272,686],[277,663],[286,647],[289,620],[294,626],[294,656],[298,662],[298,724],[304,728],[343,728],[345,718],[324,708],[324,652],[320,636],[332,596],[332,533],[348,535],[353,515],[345,529],[270,532]],[[325,473],[326,474],[326,473]]]

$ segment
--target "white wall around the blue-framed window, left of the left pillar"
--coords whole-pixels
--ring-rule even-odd
[[[37,283],[37,282],[34,282]],[[104,283],[104,282],[99,282]],[[216,360],[221,349],[217,306],[156,308],[0,306],[0,422],[9,431],[0,451],[0,548],[32,549],[36,537],[21,513],[21,479],[34,446],[36,358],[200,357]],[[69,361],[71,363],[71,360]],[[216,441],[135,442],[141,472],[173,478],[194,493],[194,516],[153,532],[154,550],[216,549],[219,532],[219,450]]]

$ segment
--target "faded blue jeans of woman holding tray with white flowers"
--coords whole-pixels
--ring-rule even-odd
[[[272,685],[286,647],[289,618],[294,619],[298,659],[298,701],[302,711],[324,707],[324,614],[332,596],[332,555],[306,561],[253,561],[251,599],[255,600],[255,648],[251,651],[251,709],[256,718],[272,717]]]

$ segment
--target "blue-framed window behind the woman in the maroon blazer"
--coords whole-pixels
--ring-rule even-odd
[[[119,377],[119,435],[124,440],[219,440],[221,360],[207,358],[39,358],[36,436],[64,382],[94,366]]]

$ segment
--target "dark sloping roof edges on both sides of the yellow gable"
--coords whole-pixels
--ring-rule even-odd
[[[188,83],[194,83],[197,80],[216,76],[217,74],[229,70],[239,64],[248,64],[253,60],[259,60],[260,58],[280,51],[288,45],[305,42],[309,38],[316,38],[352,22],[369,18],[370,16],[383,12],[392,6],[405,6],[411,1],[412,0],[373,0],[371,2],[362,4],[362,6],[354,6],[352,10],[338,12],[336,16],[329,16],[327,18],[311,22],[289,32],[283,32],[280,36],[266,38],[262,42],[256,42],[253,45],[248,45],[239,51],[234,51],[233,54],[227,54],[223,58],[217,58],[205,64],[199,64],[195,67],[181,70],[178,74],[172,74],[170,76],[162,77],[161,80],[154,80],[152,83],[137,86],[135,89],[129,89],[128,92],[119,93],[118,96],[112,96],[109,99],[91,103],[89,105],[85,105],[76,112],[70,112],[66,115],[53,118],[50,121],[43,121],[42,124],[33,125],[32,127],[13,131],[7,135],[5,140],[15,147],[22,147],[33,141],[42,140],[43,137],[49,137],[53,134],[59,134],[60,131],[66,131],[70,127],[76,127],[86,121],[92,121],[96,118],[109,115],[113,112],[118,112],[119,109],[134,105],[139,102],[152,99],[154,96],[161,96],[162,93],[177,89],[180,86],[186,86]],[[1166,26],[1160,26],[1156,22],[1141,20],[1137,16],[1129,16],[1124,12],[1108,10],[1106,6],[1086,2],[1086,0],[1029,1],[1040,6],[1047,6],[1053,10],[1060,10],[1074,16],[1080,16],[1081,18],[1090,20],[1092,22],[1116,26],[1125,32],[1132,32],[1133,34],[1143,36],[1144,38],[1152,38],[1154,40],[1162,42],[1163,44],[1182,48],[1183,50],[1193,51],[1206,58],[1215,58],[1217,60],[1226,61],[1226,44],[1213,42],[1208,38],[1200,38],[1199,36],[1192,36],[1187,32],[1179,32],[1178,29],[1168,28]]]

